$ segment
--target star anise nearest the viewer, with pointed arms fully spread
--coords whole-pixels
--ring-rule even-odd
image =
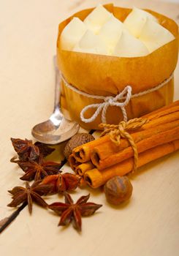
[[[80,197],[76,203],[68,193],[64,193],[65,203],[52,203],[48,208],[55,211],[61,216],[59,226],[66,226],[72,222],[73,227],[78,231],[81,230],[81,217],[94,214],[102,205],[96,203],[87,203],[90,195]]]

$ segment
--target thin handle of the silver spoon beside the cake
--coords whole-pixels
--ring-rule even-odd
[[[54,112],[61,113],[60,107],[60,96],[61,96],[61,89],[60,89],[60,72],[57,66],[56,56],[53,56],[54,67],[56,71],[56,85],[55,85],[55,99],[54,99]]]

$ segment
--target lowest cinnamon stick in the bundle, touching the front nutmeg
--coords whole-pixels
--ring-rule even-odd
[[[164,157],[179,148],[179,140],[173,140],[170,143],[165,143],[155,148],[150,148],[139,154],[138,167],[147,164],[155,159]],[[93,170],[87,170],[84,178],[90,187],[97,188],[105,184],[110,178],[114,176],[124,176],[130,173],[133,168],[133,159],[126,159],[125,161],[108,167],[104,170],[99,171],[97,168]]]

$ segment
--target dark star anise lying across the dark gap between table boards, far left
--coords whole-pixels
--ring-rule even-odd
[[[42,199],[42,195],[47,195],[52,189],[52,185],[40,184],[41,181],[36,181],[34,184],[29,186],[29,183],[26,182],[26,187],[14,187],[8,192],[12,194],[12,202],[7,206],[16,207],[20,203],[28,203],[28,211],[31,214],[32,211],[32,201],[35,201],[39,206],[47,207],[47,203]]]

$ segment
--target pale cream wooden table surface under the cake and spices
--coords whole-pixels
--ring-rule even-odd
[[[22,171],[9,159],[14,156],[12,138],[31,139],[31,127],[53,110],[54,71],[58,23],[73,12],[97,3],[94,0],[0,1],[0,220],[8,208],[7,189],[23,185]],[[118,6],[148,7],[179,21],[179,4],[167,1],[114,1]],[[179,99],[179,66],[175,70],[175,99]],[[96,135],[97,136],[97,135]],[[63,159],[56,146],[53,159]],[[91,193],[102,203],[93,217],[83,218],[83,231],[57,227],[59,217],[39,206],[33,214],[23,208],[1,233],[0,253],[9,255],[179,255],[179,152],[145,167],[132,178],[132,199],[111,207],[100,189],[77,189],[72,196]],[[63,169],[69,170],[65,165]],[[53,195],[47,203],[63,200]]]

